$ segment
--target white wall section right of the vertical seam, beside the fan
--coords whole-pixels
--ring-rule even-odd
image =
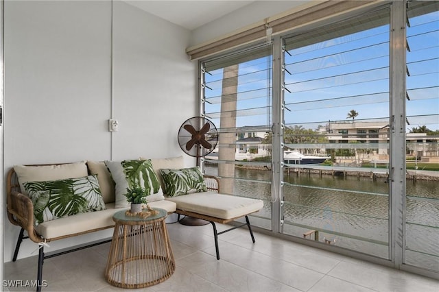
[[[195,115],[198,73],[185,53],[189,32],[145,15],[115,2],[115,159],[180,153],[178,128]]]

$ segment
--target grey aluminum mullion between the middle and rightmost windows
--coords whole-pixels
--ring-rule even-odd
[[[390,10],[389,254],[396,268],[405,262],[406,5],[406,1],[394,1]]]

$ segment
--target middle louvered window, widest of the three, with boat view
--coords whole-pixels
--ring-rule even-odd
[[[300,167],[286,165],[299,175],[284,175],[285,234],[389,257],[388,184],[358,174],[379,158],[368,151],[366,127],[389,121],[389,23],[383,9],[284,40],[283,143],[304,155]],[[339,143],[318,125],[337,131]],[[373,171],[385,179],[386,170]]]

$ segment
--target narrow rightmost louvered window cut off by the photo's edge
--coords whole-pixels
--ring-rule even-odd
[[[439,161],[438,1],[407,4],[406,66],[407,138],[410,137],[406,169],[416,177],[434,171],[433,165]],[[439,183],[407,180],[406,184],[405,263],[437,271],[439,224],[433,218],[439,216]]]

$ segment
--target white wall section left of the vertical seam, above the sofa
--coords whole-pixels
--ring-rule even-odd
[[[110,155],[104,1],[5,1],[5,167]]]

